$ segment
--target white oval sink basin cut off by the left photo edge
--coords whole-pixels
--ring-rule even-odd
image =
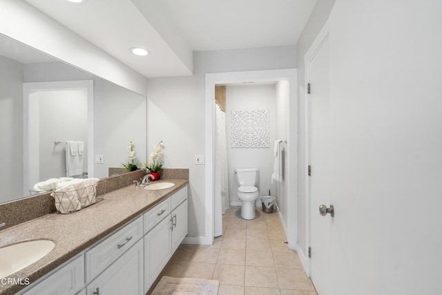
[[[54,247],[55,243],[50,240],[31,240],[0,248],[0,278],[32,265]]]

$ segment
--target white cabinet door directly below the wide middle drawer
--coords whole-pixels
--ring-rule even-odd
[[[139,240],[88,285],[87,295],[144,295],[143,255],[143,240]]]

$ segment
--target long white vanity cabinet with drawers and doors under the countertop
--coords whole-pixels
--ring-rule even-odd
[[[20,294],[146,294],[187,234],[187,202],[185,186]]]

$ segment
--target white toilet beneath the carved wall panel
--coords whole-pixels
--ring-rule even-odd
[[[238,198],[242,201],[241,217],[247,220],[255,218],[255,201],[260,196],[258,188],[258,168],[235,169],[238,183]]]

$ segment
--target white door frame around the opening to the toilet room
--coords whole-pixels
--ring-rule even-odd
[[[298,241],[298,99],[296,68],[282,70],[256,70],[247,72],[206,74],[205,92],[205,245],[213,243],[215,233],[215,159],[214,159],[214,122],[215,120],[215,84],[244,82],[289,82],[289,137],[287,138],[287,241],[290,249],[296,249]]]

